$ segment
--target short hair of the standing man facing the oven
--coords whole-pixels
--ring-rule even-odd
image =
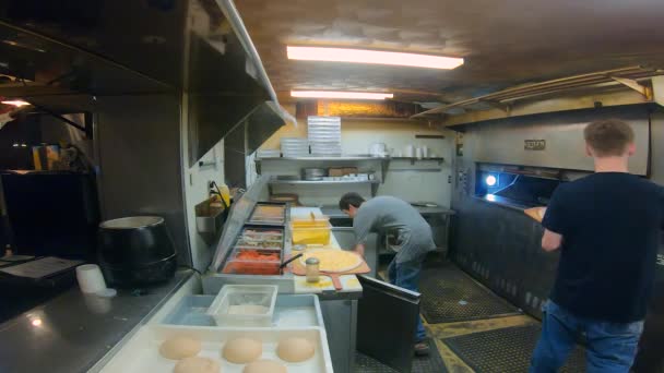
[[[583,130],[583,136],[597,157],[622,156],[635,142],[635,131],[618,119],[592,122]]]

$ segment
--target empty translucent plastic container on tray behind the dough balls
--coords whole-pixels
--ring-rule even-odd
[[[220,326],[271,326],[275,285],[225,285],[206,314]]]

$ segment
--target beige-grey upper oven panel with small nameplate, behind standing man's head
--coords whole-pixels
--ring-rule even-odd
[[[477,161],[524,165],[577,170],[593,170],[593,160],[585,155],[583,129],[597,119],[619,118],[636,134],[637,153],[630,158],[632,173],[648,170],[649,125],[647,107],[584,110],[556,116],[535,116],[491,121],[476,125]],[[544,140],[544,151],[524,149],[525,140]]]

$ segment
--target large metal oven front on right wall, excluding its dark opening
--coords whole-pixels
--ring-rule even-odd
[[[452,208],[456,215],[451,231],[451,257],[491,290],[526,312],[541,316],[541,306],[548,298],[556,275],[558,254],[541,250],[542,226],[527,218],[523,212],[473,197],[476,163],[581,169],[573,161],[585,161],[583,147],[572,154],[576,152],[574,145],[562,146],[568,141],[582,144],[580,123],[600,118],[625,119],[637,130],[637,136],[640,137],[638,146],[648,148],[649,144],[643,144],[643,139],[649,139],[647,110],[647,107],[625,107],[562,112],[496,121],[486,129],[484,124],[477,123],[467,127],[463,134],[464,154],[454,156],[452,161]],[[557,131],[562,134],[556,133]],[[577,134],[576,140],[571,139],[573,133]],[[549,136],[557,143],[552,148],[556,149],[556,156],[524,156],[523,140],[529,136]],[[652,137],[652,179],[661,182],[664,180],[664,146],[655,144],[664,144],[664,112],[654,117]],[[509,146],[512,148],[505,148]],[[637,160],[632,167],[645,173],[642,163],[647,165],[648,158]],[[589,167],[588,164],[584,165],[583,167]],[[590,165],[592,170],[592,160]]]

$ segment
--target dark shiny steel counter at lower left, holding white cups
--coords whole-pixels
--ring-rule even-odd
[[[0,372],[85,372],[150,316],[191,276],[111,299],[78,287],[0,324]]]

